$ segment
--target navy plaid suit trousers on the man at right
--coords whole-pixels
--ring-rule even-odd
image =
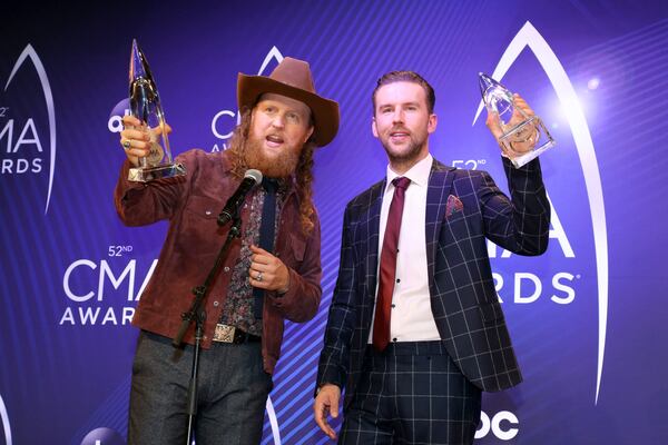
[[[341,444],[471,444],[481,390],[459,370],[442,342],[369,347],[345,413]]]

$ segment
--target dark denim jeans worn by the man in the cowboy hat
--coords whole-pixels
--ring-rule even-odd
[[[191,346],[143,332],[132,365],[128,444],[186,443],[186,399]],[[197,445],[256,445],[262,439],[272,376],[259,343],[214,343],[200,350],[195,437]]]

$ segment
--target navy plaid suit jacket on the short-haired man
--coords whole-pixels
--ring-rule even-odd
[[[436,327],[462,374],[492,392],[519,384],[522,376],[494,290],[485,238],[519,255],[540,255],[550,226],[538,159],[520,169],[508,159],[503,164],[512,199],[485,171],[455,169],[435,159],[426,196],[428,276]],[[384,189],[382,180],[351,200],[343,220],[317,387],[345,387],[344,406],[360,378],[373,318]],[[446,216],[451,195],[463,206]]]

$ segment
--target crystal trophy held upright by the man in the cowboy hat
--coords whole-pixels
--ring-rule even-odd
[[[148,156],[139,158],[139,166],[130,168],[128,180],[147,182],[154,179],[183,176],[186,169],[174,164],[167,138],[165,112],[146,57],[137,40],[132,40],[130,55],[130,113],[147,126],[151,132]],[[156,131],[159,128],[160,131]]]

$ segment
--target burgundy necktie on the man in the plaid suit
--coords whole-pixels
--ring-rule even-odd
[[[397,177],[392,180],[392,184],[394,185],[394,196],[392,197],[392,204],[390,204],[387,225],[385,226],[385,236],[381,250],[379,295],[376,297],[375,318],[373,322],[373,347],[379,352],[384,350],[390,343],[390,313],[396,276],[399,230],[401,229],[404,194],[411,180]]]

